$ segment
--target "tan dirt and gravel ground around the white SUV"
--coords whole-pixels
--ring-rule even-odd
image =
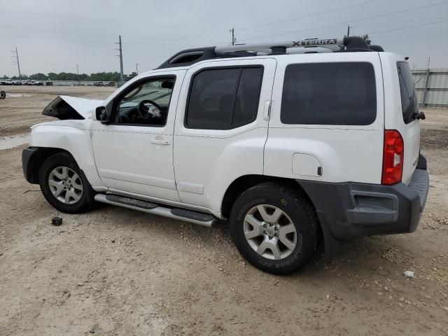
[[[18,97],[0,101],[0,137],[47,120],[56,94],[113,91],[4,89]],[[345,241],[329,265],[317,253],[290,276],[248,265],[226,225],[106,205],[58,214],[23,178],[24,146],[0,151],[0,335],[448,335],[448,111],[426,117],[416,232]]]

